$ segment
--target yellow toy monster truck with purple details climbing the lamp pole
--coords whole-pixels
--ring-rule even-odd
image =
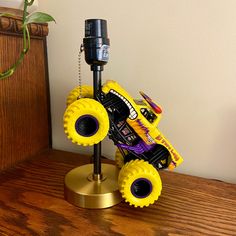
[[[82,86],[69,94],[64,114],[64,130],[72,142],[94,145],[107,135],[113,140],[116,163],[121,168],[119,190],[135,207],[153,204],[162,190],[158,171],[172,170],[183,161],[157,128],[161,107],[140,94],[143,99],[133,99],[117,82],[109,80],[96,101],[92,87]]]

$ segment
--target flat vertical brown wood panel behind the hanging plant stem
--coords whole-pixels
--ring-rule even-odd
[[[21,37],[0,33],[1,72],[15,63],[21,49]],[[0,170],[50,146],[45,50],[45,37],[32,39],[15,74],[0,80]]]

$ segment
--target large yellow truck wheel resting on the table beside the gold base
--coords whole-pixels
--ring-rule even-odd
[[[125,201],[135,207],[153,204],[162,189],[157,170],[144,160],[126,163],[120,171],[118,185]]]

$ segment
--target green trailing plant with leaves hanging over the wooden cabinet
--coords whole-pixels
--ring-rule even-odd
[[[30,49],[30,33],[28,29],[28,25],[31,23],[47,23],[50,21],[54,21],[55,19],[43,12],[34,12],[30,15],[27,15],[27,9],[34,3],[34,0],[24,0],[24,10],[23,10],[23,17],[22,17],[22,32],[23,32],[23,49],[20,53],[19,58],[16,60],[16,62],[10,66],[6,71],[0,72],[0,80],[6,79],[14,74],[17,67],[21,64],[23,61],[25,55]],[[9,13],[3,13],[0,14],[1,16],[14,16],[13,14]]]

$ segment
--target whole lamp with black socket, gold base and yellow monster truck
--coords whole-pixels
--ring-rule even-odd
[[[106,21],[85,21],[83,49],[93,71],[93,87],[79,86],[67,98],[64,129],[73,143],[94,145],[94,163],[65,177],[65,198],[85,208],[106,208],[125,199],[130,205],[153,204],[161,194],[158,171],[174,169],[182,157],[158,130],[162,109],[150,97],[133,99],[117,82],[101,84],[108,62]],[[115,165],[101,164],[101,141],[117,146]]]

